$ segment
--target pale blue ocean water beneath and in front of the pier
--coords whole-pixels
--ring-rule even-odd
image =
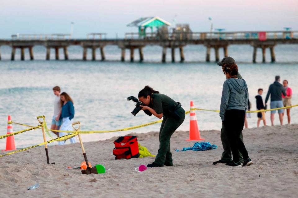
[[[203,46],[185,47],[185,62],[180,63],[179,53],[176,51],[176,63],[170,62],[170,51],[167,63],[161,60],[161,47],[148,46],[144,48],[144,62],[138,62],[138,51],[135,51],[135,62],[130,63],[129,51],[126,51],[127,62],[119,62],[120,49],[114,46],[105,48],[107,61],[81,61],[82,48],[69,48],[70,61],[54,60],[52,51],[50,61],[45,61],[45,48],[34,47],[34,61],[29,61],[26,51],[26,61],[20,61],[17,50],[16,61],[11,62],[11,49],[2,46],[0,61],[0,135],[6,134],[7,115],[19,123],[38,125],[36,119],[45,115],[50,128],[53,114],[54,95],[52,87],[59,85],[62,91],[69,93],[74,100],[74,121],[81,121],[81,130],[113,130],[148,123],[157,120],[143,112],[133,116],[134,103],[126,97],[136,96],[145,85],[172,97],[182,103],[185,110],[189,109],[190,101],[194,101],[197,108],[218,110],[222,85],[225,76],[221,67],[214,63],[214,52],[211,62],[206,63],[205,48]],[[275,75],[289,81],[293,89],[292,104],[298,104],[298,45],[278,45],[276,47],[276,63],[270,63],[270,53],[267,51],[267,63],[260,63],[261,52],[258,51],[257,61],[251,63],[252,47],[235,45],[229,47],[229,55],[236,59],[239,72],[246,80],[249,89],[249,99],[252,110],[255,110],[255,95],[258,88],[264,89],[265,99],[268,87],[274,81]],[[220,57],[223,57],[222,50]],[[88,51],[88,59],[91,52]],[[268,103],[269,104],[269,103]],[[298,123],[298,107],[291,110],[292,123]],[[218,113],[196,111],[200,130],[221,128]],[[249,127],[256,127],[257,116],[251,114],[248,118]],[[279,124],[276,114],[275,124]],[[270,113],[266,113],[267,124],[270,124]],[[287,123],[287,119],[284,119]],[[262,126],[262,123],[261,123]],[[84,141],[104,140],[112,136],[125,135],[129,132],[159,131],[160,124],[155,124],[132,131],[84,134]],[[26,127],[13,125],[14,131]],[[189,118],[178,130],[188,130]],[[220,137],[219,137],[220,138]],[[18,148],[43,142],[41,130],[25,132],[15,136]],[[56,144],[51,143],[50,145]],[[5,139],[0,140],[0,149],[5,148]]]

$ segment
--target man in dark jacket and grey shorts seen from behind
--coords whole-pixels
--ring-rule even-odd
[[[277,75],[275,76],[275,81],[273,84],[270,84],[269,89],[268,89],[268,93],[265,99],[265,105],[267,104],[267,101],[269,99],[269,95],[271,94],[270,97],[270,109],[275,109],[275,108],[281,108],[283,107],[283,103],[282,103],[282,94],[284,96],[286,96],[286,92],[285,89],[283,88],[282,84],[279,83],[280,82],[280,76]],[[283,122],[283,111],[284,109],[279,109],[278,110],[278,115],[279,115],[279,121],[280,121],[280,125],[282,125]],[[274,124],[274,114],[275,114],[276,110],[272,110],[271,114],[270,114],[270,120],[271,120],[271,125],[273,126]]]

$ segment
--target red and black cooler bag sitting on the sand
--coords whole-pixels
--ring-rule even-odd
[[[122,136],[115,140],[114,144],[113,155],[115,155],[116,160],[140,157],[137,136]]]

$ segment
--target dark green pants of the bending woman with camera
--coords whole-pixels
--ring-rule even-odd
[[[159,149],[154,161],[157,165],[163,166],[165,162],[173,164],[170,138],[185,119],[184,109],[181,107],[178,111],[181,114],[180,119],[164,117],[162,120],[159,131]]]

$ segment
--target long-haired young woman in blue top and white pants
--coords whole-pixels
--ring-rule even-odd
[[[75,116],[75,107],[74,107],[74,103],[71,99],[71,97],[63,92],[60,94],[60,98],[61,98],[61,116],[60,119],[62,119],[62,125],[60,130],[61,131],[72,131],[72,127],[71,127],[71,123],[72,123],[72,119]],[[59,136],[65,136],[66,133],[64,132],[60,132]],[[64,144],[65,141],[61,141],[58,142],[59,145]],[[70,143],[75,143],[75,137],[70,138]]]

